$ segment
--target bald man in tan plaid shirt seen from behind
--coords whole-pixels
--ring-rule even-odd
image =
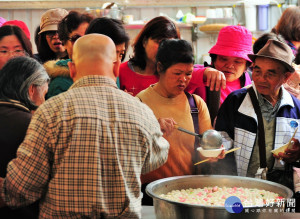
[[[78,39],[74,84],[41,105],[1,180],[11,207],[40,200],[40,218],[140,218],[140,175],[167,159],[152,111],[116,86],[113,41]]]

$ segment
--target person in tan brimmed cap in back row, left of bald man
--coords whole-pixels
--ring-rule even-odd
[[[41,18],[40,31],[37,36],[37,50],[35,58],[41,63],[49,60],[68,58],[65,47],[58,37],[57,25],[68,14],[62,8],[46,11]]]

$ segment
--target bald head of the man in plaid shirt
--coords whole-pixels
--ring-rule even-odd
[[[73,80],[86,75],[102,75],[115,78],[114,63],[117,60],[116,46],[107,36],[88,34],[80,37],[74,44],[72,64],[75,74],[70,73]]]

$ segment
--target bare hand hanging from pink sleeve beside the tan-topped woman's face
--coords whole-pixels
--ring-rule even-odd
[[[210,87],[210,90],[218,91],[220,87],[226,88],[226,77],[223,72],[214,68],[206,68],[203,74],[203,82],[206,86]]]

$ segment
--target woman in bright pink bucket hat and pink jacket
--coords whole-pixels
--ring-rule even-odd
[[[199,95],[206,101],[212,122],[218,112],[219,105],[234,90],[238,90],[251,84],[251,78],[247,72],[251,65],[248,54],[252,52],[252,34],[243,26],[223,27],[218,35],[217,43],[210,50],[211,65],[204,63],[194,68],[193,80],[189,83],[186,91]],[[210,68],[207,68],[207,67]],[[226,78],[226,86],[221,86],[219,93],[203,86],[204,75],[213,75],[214,72],[222,72]],[[216,74],[215,74],[216,75]],[[214,80],[212,80],[214,81]],[[219,82],[218,82],[219,81]],[[219,90],[220,80],[216,80],[215,90]],[[220,99],[220,101],[219,101]],[[217,104],[220,102],[220,104]]]

